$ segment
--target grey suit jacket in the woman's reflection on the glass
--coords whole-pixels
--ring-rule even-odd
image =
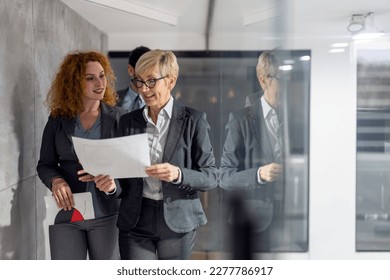
[[[244,197],[256,230],[272,221],[275,183],[257,182],[260,166],[275,162],[273,146],[263,117],[261,100],[229,116],[220,169],[220,187]]]

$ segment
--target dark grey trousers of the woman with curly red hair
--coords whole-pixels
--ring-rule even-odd
[[[117,260],[117,214],[108,217],[49,226],[53,260]]]

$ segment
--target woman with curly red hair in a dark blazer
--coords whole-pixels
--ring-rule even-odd
[[[115,107],[115,75],[108,58],[96,51],[65,56],[49,89],[50,116],[43,131],[37,172],[64,211],[74,207],[74,193],[91,192],[95,218],[49,226],[52,259],[117,259],[117,201],[104,192],[115,189],[105,180],[97,189],[85,174],[72,136],[115,137],[124,110]],[[96,183],[97,184],[97,183]]]

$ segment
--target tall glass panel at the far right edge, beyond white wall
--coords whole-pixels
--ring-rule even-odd
[[[357,251],[390,251],[389,77],[389,49],[357,51]]]

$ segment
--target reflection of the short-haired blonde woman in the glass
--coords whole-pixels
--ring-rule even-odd
[[[256,67],[263,95],[229,116],[223,148],[220,187],[234,191],[245,209],[230,214],[232,225],[250,221],[251,249],[269,251],[278,219],[282,182],[282,139],[279,107],[278,64],[274,54],[263,52]],[[239,215],[239,216],[238,216]],[[242,215],[246,215],[243,217]]]

